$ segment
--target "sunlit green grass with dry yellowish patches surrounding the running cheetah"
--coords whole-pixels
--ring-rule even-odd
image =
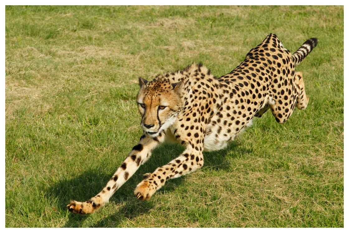
[[[343,7],[6,7],[7,227],[343,227]],[[148,202],[133,190],[183,148],[163,145],[90,216],[138,141],[138,77],[202,62],[230,72],[270,32],[295,51],[305,111],[271,112]]]

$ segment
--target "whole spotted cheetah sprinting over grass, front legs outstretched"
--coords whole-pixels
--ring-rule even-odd
[[[185,147],[168,164],[144,175],[135,188],[136,198],[149,199],[167,180],[194,172],[203,166],[203,151],[226,147],[240,132],[271,110],[284,123],[295,107],[305,109],[305,93],[298,65],[317,45],[308,39],[295,53],[285,49],[275,34],[247,53],[230,73],[215,78],[202,64],[157,75],[154,80],[139,78],[137,96],[143,134],[105,187],[86,202],[71,201],[73,213],[88,214],[104,206],[109,198],[145,163],[151,151],[167,139]]]

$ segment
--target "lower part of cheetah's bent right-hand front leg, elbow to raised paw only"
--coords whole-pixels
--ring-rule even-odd
[[[178,158],[167,165],[157,168],[153,173],[145,175],[134,194],[140,200],[149,199],[156,190],[160,189],[168,179],[177,178],[182,175],[194,172],[203,166],[202,151],[187,148]]]

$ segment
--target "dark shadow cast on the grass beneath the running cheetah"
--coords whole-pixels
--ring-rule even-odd
[[[204,153],[204,167],[210,167],[214,170],[229,170],[231,169],[229,161],[226,159],[226,155],[236,149],[236,144],[230,144],[226,149],[216,152]],[[242,150],[242,151],[241,151]],[[116,213],[108,216],[94,227],[117,227],[121,221],[125,218],[132,219],[140,214],[144,214],[152,209],[153,204],[150,201],[141,202],[134,197],[133,190],[136,185],[142,181],[143,174],[153,172],[157,167],[165,165],[172,159],[176,158],[183,151],[183,147],[176,144],[166,144],[157,148],[149,161],[147,161],[139,170],[111,197],[110,204],[122,203],[123,207]],[[250,150],[244,150],[239,148],[240,152],[251,153]],[[233,155],[234,156],[234,155]],[[117,168],[117,167],[116,167]],[[113,173],[114,171],[112,171]],[[73,179],[63,179],[60,182],[52,185],[46,192],[47,196],[54,197],[58,202],[58,209],[62,212],[66,212],[66,205],[70,199],[77,201],[86,201],[95,196],[104,187],[107,181],[109,181],[111,174],[101,173],[98,169],[86,170],[83,174],[76,176]],[[175,189],[183,182],[183,177],[178,179],[169,180],[166,182],[166,192]],[[164,189],[160,189],[158,194],[164,192]],[[87,216],[80,216],[69,213],[69,220],[64,227],[81,227]]]

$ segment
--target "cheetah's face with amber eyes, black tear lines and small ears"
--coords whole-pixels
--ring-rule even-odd
[[[139,78],[139,85],[137,103],[142,116],[141,127],[149,136],[156,137],[176,120],[182,106],[179,93],[182,83],[171,84],[169,80],[148,82]]]

